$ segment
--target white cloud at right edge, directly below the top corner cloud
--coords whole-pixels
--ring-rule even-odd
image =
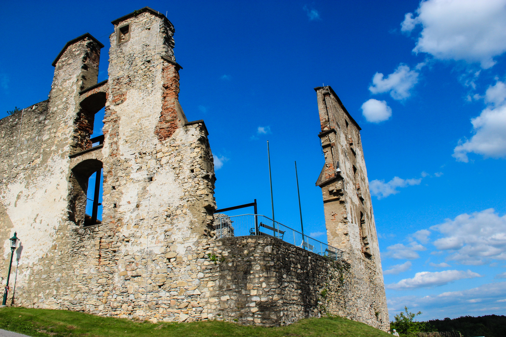
[[[453,150],[457,161],[467,163],[468,153],[485,158],[506,158],[506,85],[497,81],[485,92],[487,108],[471,119],[474,135],[460,140]]]

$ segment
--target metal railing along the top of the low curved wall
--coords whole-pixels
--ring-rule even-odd
[[[248,235],[276,237],[293,246],[329,257],[332,260],[340,259],[343,254],[343,251],[338,248],[329,246],[308,235],[303,235],[301,232],[264,215],[242,214],[219,217],[215,219],[215,231],[217,238]]]

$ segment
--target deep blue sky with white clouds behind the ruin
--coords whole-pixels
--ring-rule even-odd
[[[325,239],[313,87],[331,85],[362,127],[390,313],[504,314],[506,0],[3,2],[0,117],[45,100],[51,63],[85,32],[106,79],[110,21],[144,6],[176,27],[218,207],[271,214],[269,140],[276,220],[300,224],[297,160],[305,232]]]

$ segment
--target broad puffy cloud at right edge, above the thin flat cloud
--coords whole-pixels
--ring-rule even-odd
[[[444,235],[434,246],[450,253],[447,260],[468,265],[506,260],[506,215],[500,217],[492,208],[460,214],[430,229]]]

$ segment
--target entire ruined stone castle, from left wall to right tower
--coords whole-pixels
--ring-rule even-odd
[[[9,237],[21,238],[8,303],[266,326],[339,314],[388,329],[360,128],[331,88],[317,88],[317,184],[343,258],[272,237],[217,239],[213,156],[204,122],[178,102],[174,26],[147,7],[112,24],[108,80],[97,83],[103,45],[81,35],[55,59],[49,99],[0,120],[3,285]],[[91,140],[102,108],[103,140]],[[102,169],[102,220],[90,221],[88,180]]]

